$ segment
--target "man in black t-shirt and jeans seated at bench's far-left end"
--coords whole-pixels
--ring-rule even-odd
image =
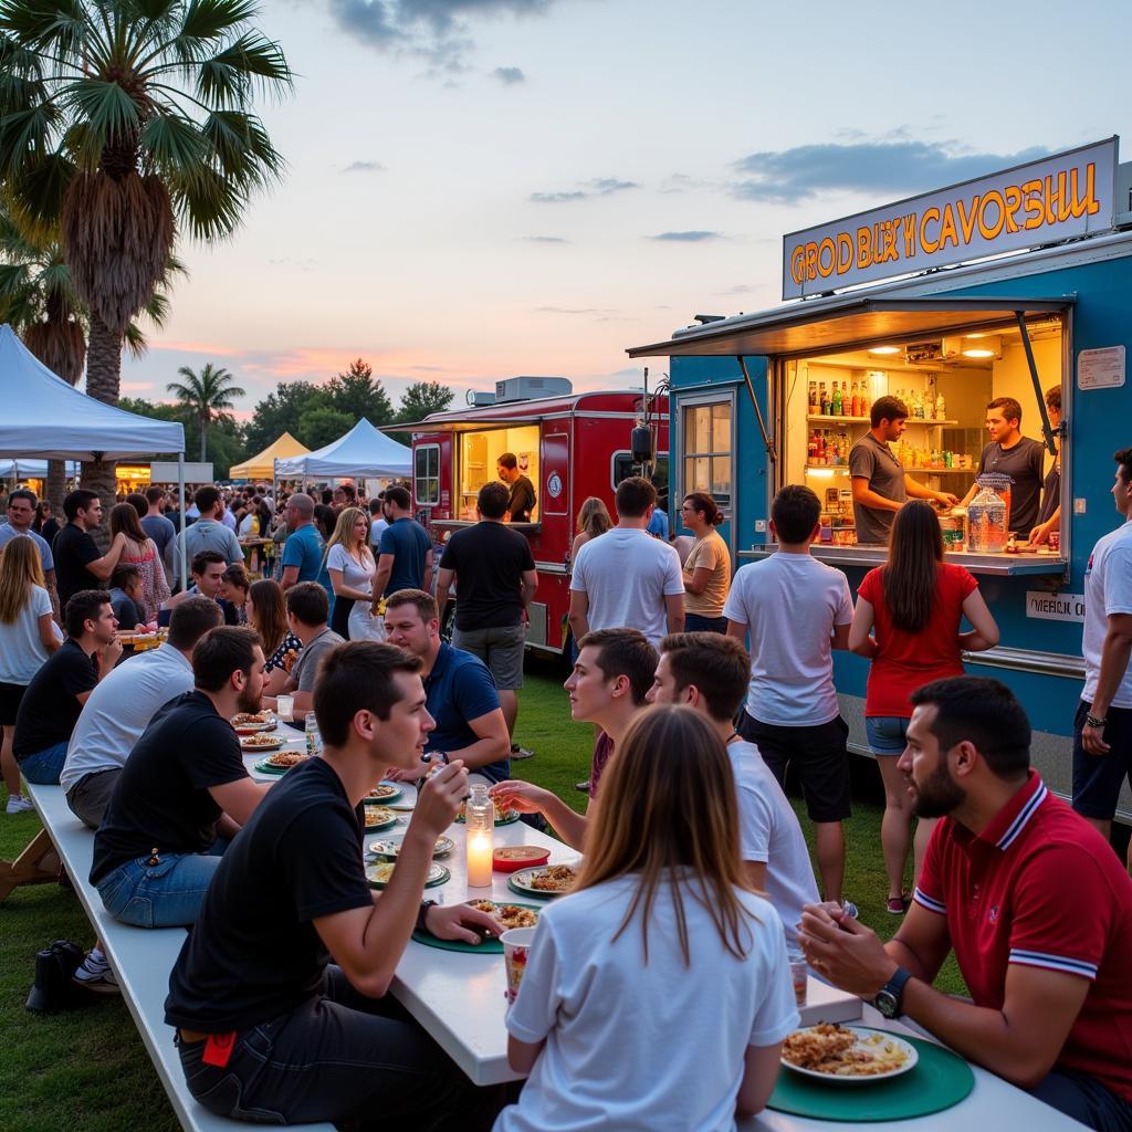
[[[44,786],[59,786],[83,704],[122,655],[118,620],[105,591],[76,593],[67,602],[63,624],[67,640],[32,677],[11,744],[24,778]]]

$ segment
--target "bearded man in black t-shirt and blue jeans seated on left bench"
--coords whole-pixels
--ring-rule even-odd
[[[213,629],[192,650],[192,678],[135,744],[94,838],[91,883],[106,911],[137,927],[196,920],[223,846],[267,791],[248,775],[229,723],[259,711],[259,638]]]

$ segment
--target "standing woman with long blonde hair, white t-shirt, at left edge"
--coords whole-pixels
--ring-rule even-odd
[[[31,539],[12,539],[0,551],[0,767],[9,814],[32,808],[31,799],[20,794],[11,740],[16,712],[32,677],[62,644],[51,612],[38,549]]]

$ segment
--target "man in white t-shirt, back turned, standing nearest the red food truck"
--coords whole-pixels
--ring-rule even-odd
[[[684,628],[679,555],[649,537],[657,489],[640,475],[617,484],[617,526],[577,552],[569,589],[575,641],[591,629],[640,629],[655,649]]]

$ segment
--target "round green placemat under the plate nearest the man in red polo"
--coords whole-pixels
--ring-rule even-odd
[[[951,1108],[975,1088],[975,1073],[962,1057],[934,1041],[907,1034],[898,1037],[919,1054],[916,1067],[902,1077],[847,1089],[803,1077],[783,1065],[766,1107],[820,1121],[907,1121]]]

